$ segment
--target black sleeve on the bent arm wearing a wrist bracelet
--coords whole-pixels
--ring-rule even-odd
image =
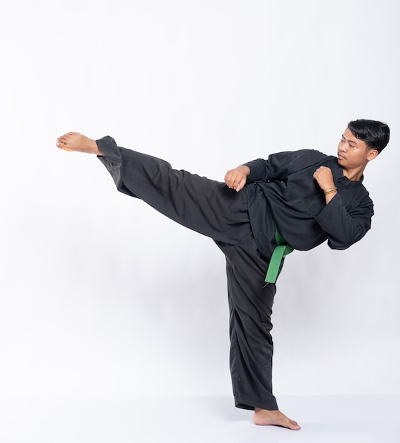
[[[373,204],[369,197],[346,209],[338,192],[314,219],[327,234],[331,249],[347,249],[369,231],[373,214]]]

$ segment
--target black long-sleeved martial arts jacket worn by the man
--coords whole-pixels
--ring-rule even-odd
[[[346,249],[370,229],[372,200],[361,181],[343,176],[336,157],[302,149],[246,165],[250,222],[259,251],[266,257],[276,244],[273,222],[286,242],[300,251],[326,240],[332,249]],[[313,178],[319,166],[331,168],[338,188],[328,205]]]

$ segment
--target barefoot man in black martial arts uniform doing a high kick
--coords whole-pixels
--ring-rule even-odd
[[[228,171],[225,183],[172,169],[111,137],[95,141],[69,132],[57,146],[97,154],[120,192],[213,238],[226,257],[235,405],[254,410],[257,425],[298,430],[272,393],[271,312],[282,255],[326,240],[345,249],[365,235],[373,205],[363,172],[388,142],[386,124],[355,120],[337,158],[307,149],[272,154]]]

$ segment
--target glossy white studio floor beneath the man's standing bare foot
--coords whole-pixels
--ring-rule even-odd
[[[300,431],[252,424],[230,397],[0,399],[1,443],[398,443],[400,396],[278,398]]]

